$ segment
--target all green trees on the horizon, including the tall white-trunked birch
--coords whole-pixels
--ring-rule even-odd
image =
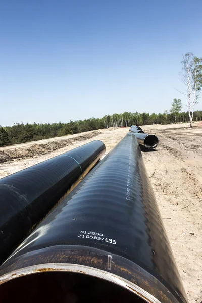
[[[202,57],[196,57],[193,53],[186,53],[183,56],[181,81],[185,85],[185,91],[179,91],[187,96],[187,112],[182,112],[182,102],[174,99],[170,113],[168,110],[163,114],[152,113],[131,113],[106,115],[103,118],[90,118],[87,120],[71,121],[69,123],[45,123],[45,124],[24,124],[15,123],[12,127],[0,126],[0,146],[9,144],[25,143],[28,141],[60,137],[90,130],[97,130],[109,127],[129,127],[133,124],[170,124],[178,122],[202,120],[202,111],[195,111],[194,106],[198,103],[199,94],[202,91]]]

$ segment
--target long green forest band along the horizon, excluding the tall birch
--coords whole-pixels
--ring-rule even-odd
[[[13,126],[0,126],[0,146],[25,143],[41,139],[65,136],[85,131],[109,127],[129,127],[130,125],[170,124],[188,122],[189,113],[181,112],[181,100],[174,99],[170,112],[163,114],[131,113],[106,115],[103,118],[90,118],[70,121],[69,123],[24,124],[15,123]],[[202,111],[195,111],[193,121],[202,120]]]

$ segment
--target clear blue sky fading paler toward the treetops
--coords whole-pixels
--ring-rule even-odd
[[[186,103],[175,88],[182,55],[202,56],[201,9],[201,0],[2,0],[0,125]]]

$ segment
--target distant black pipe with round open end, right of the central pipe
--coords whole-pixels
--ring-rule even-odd
[[[144,146],[147,149],[154,149],[159,144],[159,139],[155,135],[145,134],[144,132],[143,133],[137,133],[132,128],[130,128],[129,131],[131,133],[133,133],[134,136],[136,136],[136,138],[138,140],[138,143],[140,145]]]

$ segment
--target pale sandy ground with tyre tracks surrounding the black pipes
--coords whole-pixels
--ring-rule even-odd
[[[194,124],[193,129],[189,129],[188,124],[142,127],[160,140],[155,151],[142,151],[142,156],[190,303],[202,301],[202,127],[196,126]],[[107,154],[127,132],[128,128],[110,128],[93,134],[88,132],[2,147],[0,159],[1,155],[5,157],[5,152],[9,156],[7,162],[0,163],[0,178],[94,139],[105,143]],[[78,139],[75,141],[75,138]],[[36,150],[34,155],[28,157],[27,149],[33,148]],[[24,158],[14,159],[19,149],[20,157]],[[37,155],[37,150],[42,154]]]

